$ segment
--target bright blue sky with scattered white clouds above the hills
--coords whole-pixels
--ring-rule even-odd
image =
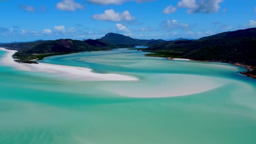
[[[0,0],[0,42],[198,39],[256,27],[256,0]]]

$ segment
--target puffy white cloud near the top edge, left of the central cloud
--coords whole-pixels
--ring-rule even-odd
[[[64,11],[76,11],[76,9],[84,9],[84,7],[80,3],[76,3],[74,0],[62,0],[61,2],[56,4],[56,8],[58,10]]]

